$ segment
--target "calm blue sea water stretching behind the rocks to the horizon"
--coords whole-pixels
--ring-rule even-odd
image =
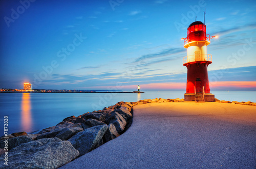
[[[256,92],[212,92],[215,98],[229,101],[256,102]],[[8,133],[38,130],[54,126],[66,117],[99,110],[119,101],[155,98],[184,98],[184,91],[146,92],[144,94],[111,93],[2,93],[0,94],[0,126],[3,135],[4,116],[9,117]]]

